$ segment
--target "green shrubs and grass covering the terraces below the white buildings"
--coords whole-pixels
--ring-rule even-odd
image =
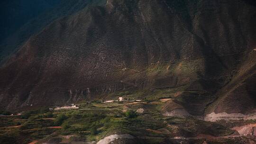
[[[172,92],[171,89],[165,89],[162,92],[152,91],[153,93],[168,94]],[[134,93],[130,92],[129,94],[133,95]],[[165,143],[166,139],[169,140],[170,137],[180,135],[186,137],[194,137],[199,134],[232,135],[234,131],[227,127],[255,122],[236,121],[230,124],[230,122],[205,122],[193,117],[165,117],[162,115],[165,103],[158,102],[158,98],[155,101],[152,101],[153,99],[150,97],[140,98],[149,99],[148,102],[145,100],[123,103],[94,101],[81,104],[80,108],[75,110],[46,112],[45,108],[45,110],[27,111],[22,116],[0,117],[2,123],[0,123],[0,144],[8,144],[7,139],[11,139],[13,144],[20,144],[21,139],[21,144],[27,144],[33,140],[40,140],[40,143],[56,143],[60,141],[60,138],[64,139],[62,135],[73,135],[72,138],[66,140],[69,142],[98,141],[113,134],[144,136],[146,138],[140,140],[142,143],[159,144]],[[143,108],[145,111],[142,114],[137,114],[138,108]],[[124,109],[126,112],[123,112]],[[201,144],[201,141],[198,144]]]

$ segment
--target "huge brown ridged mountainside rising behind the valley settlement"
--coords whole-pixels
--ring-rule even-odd
[[[86,7],[31,36],[0,68],[0,107],[177,88],[217,95],[207,113],[247,113],[256,96],[255,16],[246,0],[108,0]],[[185,108],[193,106],[184,100]]]

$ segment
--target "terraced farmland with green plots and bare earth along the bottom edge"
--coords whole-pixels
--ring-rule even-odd
[[[77,110],[0,117],[1,144],[249,144],[234,126],[255,121],[206,122],[192,116],[165,116],[169,100],[84,103]],[[140,109],[140,112],[136,112]],[[141,109],[143,111],[141,112]],[[25,112],[26,114],[27,112]],[[49,114],[49,113],[52,113]],[[23,115],[25,115],[23,114]],[[252,143],[253,144],[253,143]]]

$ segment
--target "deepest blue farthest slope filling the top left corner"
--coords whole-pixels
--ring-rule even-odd
[[[42,12],[47,11],[59,2],[49,3],[50,0],[1,0],[0,16],[0,42],[10,36],[19,27],[27,23],[30,19],[37,17]]]

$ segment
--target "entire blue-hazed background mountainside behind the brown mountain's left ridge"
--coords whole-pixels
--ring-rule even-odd
[[[105,0],[3,0],[0,16],[0,64],[15,53],[29,37],[57,18],[72,15]]]

